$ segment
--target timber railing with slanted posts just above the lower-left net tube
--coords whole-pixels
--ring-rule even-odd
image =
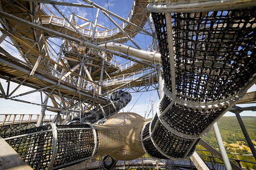
[[[43,123],[45,122],[51,122],[54,118],[54,114],[46,114],[43,118]],[[0,114],[0,129],[2,129],[4,126],[14,126],[21,124],[35,124],[37,123],[39,118],[39,114]],[[64,119],[64,115],[62,115],[62,119]]]

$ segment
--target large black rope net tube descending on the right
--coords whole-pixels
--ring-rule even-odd
[[[155,128],[151,139],[163,155],[174,159],[192,155],[198,139],[232,104],[227,101],[255,74],[255,9],[172,14],[172,23],[166,23],[165,14],[151,13],[166,91],[149,128]],[[171,73],[166,24],[173,26],[175,73]],[[200,107],[221,102],[228,104]],[[151,145],[144,146],[152,150]],[[151,156],[161,158],[157,153]]]

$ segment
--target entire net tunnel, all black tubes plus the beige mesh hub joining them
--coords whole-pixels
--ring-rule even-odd
[[[135,113],[117,113],[130,101],[129,94],[120,93],[118,100],[69,125],[48,124],[1,136],[34,169],[58,169],[105,155],[120,160],[144,153],[188,158],[213,123],[256,83],[256,7],[247,2],[172,13],[165,8],[181,9],[182,3],[150,2],[164,77],[164,96],[151,122]],[[103,125],[91,124],[102,118],[108,118]]]

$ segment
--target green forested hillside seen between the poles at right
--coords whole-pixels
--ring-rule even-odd
[[[251,140],[256,140],[256,116],[241,116],[241,118],[243,120],[247,132],[249,133]],[[244,144],[247,145],[240,125],[235,116],[222,116],[217,121],[217,123],[223,141],[227,142],[228,144],[244,141]],[[217,147],[217,140],[215,138],[213,128],[202,139],[208,142],[213,147]]]

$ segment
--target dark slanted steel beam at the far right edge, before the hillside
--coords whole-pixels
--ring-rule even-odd
[[[249,136],[249,134],[248,134],[244,124],[243,124],[242,118],[241,118],[241,116],[239,114],[240,112],[238,111],[236,105],[234,105],[234,108],[235,108],[235,116],[236,116],[236,118],[238,120],[238,123],[239,123],[241,129],[242,129],[243,135],[244,135],[244,137],[245,137],[245,139],[246,139],[246,141],[247,141],[247,143],[249,145],[249,148],[251,150],[251,153],[252,153],[254,159],[256,160],[256,150],[255,150],[255,148],[253,146],[253,143],[252,143],[252,141],[250,139],[250,136]]]

